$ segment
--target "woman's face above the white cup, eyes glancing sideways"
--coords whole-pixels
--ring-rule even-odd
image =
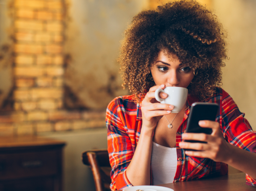
[[[193,70],[181,63],[175,55],[164,55],[161,51],[151,68],[151,74],[156,85],[165,84],[187,88],[194,77]]]

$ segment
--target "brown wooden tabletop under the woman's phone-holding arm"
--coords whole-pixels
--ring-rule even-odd
[[[230,174],[217,178],[162,184],[174,191],[256,191],[245,184],[245,173]]]

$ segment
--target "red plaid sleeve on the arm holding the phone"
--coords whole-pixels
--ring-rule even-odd
[[[222,131],[224,138],[230,144],[253,153],[256,153],[256,131],[244,118],[236,103],[223,90],[222,99]],[[246,184],[256,186],[256,180],[246,175]]]

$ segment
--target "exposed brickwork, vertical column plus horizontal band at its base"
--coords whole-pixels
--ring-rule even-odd
[[[105,112],[63,108],[65,3],[14,0],[13,109],[0,115],[0,135],[103,127]]]

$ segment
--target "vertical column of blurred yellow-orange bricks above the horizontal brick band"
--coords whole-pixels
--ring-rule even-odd
[[[28,120],[62,102],[62,86],[53,82],[64,74],[64,10],[62,0],[14,0],[15,110],[35,112]]]

